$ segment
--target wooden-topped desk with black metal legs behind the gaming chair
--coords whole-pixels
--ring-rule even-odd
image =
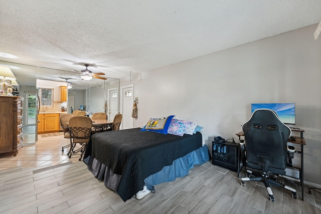
[[[295,138],[295,141],[288,140],[287,142],[296,143],[296,144],[301,145],[301,150],[300,151],[296,151],[295,150],[295,153],[301,154],[301,169],[300,169],[300,181],[299,182],[301,183],[301,194],[302,194],[301,195],[301,199],[303,200],[303,193],[304,193],[304,191],[303,191],[303,187],[304,187],[303,186],[303,145],[306,145],[304,137],[303,137],[304,130],[303,129],[291,128],[291,131],[292,132],[300,132],[300,136],[299,137],[293,136]],[[243,133],[243,131],[241,131],[241,132],[236,133],[236,135],[239,137],[239,142],[240,142],[241,136],[244,136],[244,133]],[[242,168],[240,168],[238,166],[237,176],[239,175],[239,170],[241,170],[241,169]]]

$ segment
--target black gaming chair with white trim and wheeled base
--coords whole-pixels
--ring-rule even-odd
[[[277,182],[276,176],[285,175],[288,159],[293,158],[294,147],[289,149],[286,145],[291,129],[270,109],[254,111],[251,118],[242,125],[242,129],[245,145],[241,143],[241,147],[245,149],[248,176],[241,178],[242,185],[245,186],[244,181],[262,181],[271,201],[274,201],[274,197],[270,184],[290,190],[292,197],[296,198],[296,190]]]

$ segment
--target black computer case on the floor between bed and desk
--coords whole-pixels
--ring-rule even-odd
[[[238,143],[212,141],[212,164],[237,171]]]

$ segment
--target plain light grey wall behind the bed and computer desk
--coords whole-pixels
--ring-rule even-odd
[[[139,98],[134,127],[171,114],[197,120],[211,150],[214,136],[237,139],[251,103],[295,102],[295,126],[305,130],[304,181],[321,184],[321,41],[313,39],[315,28],[121,79],[120,86],[133,84]]]

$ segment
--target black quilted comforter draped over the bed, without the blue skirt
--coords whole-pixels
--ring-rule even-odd
[[[146,177],[201,146],[200,132],[181,137],[134,128],[92,135],[84,159],[91,155],[120,174],[116,191],[126,201],[142,189]]]

